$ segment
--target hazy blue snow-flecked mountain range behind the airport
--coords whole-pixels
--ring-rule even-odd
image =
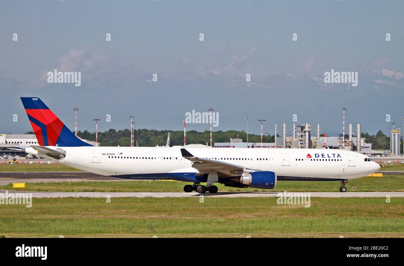
[[[266,120],[264,132],[272,135],[274,122],[278,122],[278,134],[281,134],[281,124],[286,122],[290,134],[292,118],[297,115],[298,125],[311,122],[314,129],[315,123],[320,122],[322,132],[335,135],[342,131],[343,107],[348,108],[346,123],[361,123],[362,132],[376,133],[381,129],[387,133],[391,122],[400,127],[404,117],[402,71],[370,67],[356,71],[356,87],[325,83],[324,76],[320,75],[288,73],[261,80],[255,80],[252,75],[248,82],[241,76],[185,72],[157,74],[157,81],[153,81],[153,73],[135,65],[91,75],[83,72],[80,87],[48,83],[34,87],[29,81],[0,79],[3,111],[0,133],[31,130],[19,101],[21,96],[40,97],[70,129],[74,129],[72,109],[77,106],[79,128],[90,131],[94,131],[92,119],[96,117],[101,118],[101,131],[129,128],[130,114],[135,115],[137,128],[179,130],[186,112],[207,112],[210,107],[219,113],[219,126],[213,130],[246,131],[245,117],[249,116],[251,133],[260,133],[257,120],[262,118]],[[13,122],[13,114],[19,115],[17,123]],[[108,114],[111,122],[103,120]],[[198,131],[209,127],[208,124],[187,125],[188,130]]]

